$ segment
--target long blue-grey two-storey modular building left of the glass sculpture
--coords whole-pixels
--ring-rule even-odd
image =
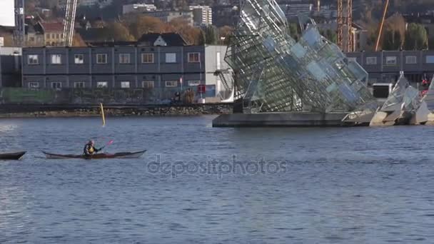
[[[223,89],[218,68],[225,46],[99,46],[23,49],[22,86],[27,88],[155,88],[207,87],[206,96]]]

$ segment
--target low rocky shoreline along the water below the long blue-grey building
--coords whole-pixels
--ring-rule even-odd
[[[121,116],[199,116],[220,115],[232,113],[232,103],[192,104],[189,106],[108,106],[104,113],[109,117]],[[39,108],[1,111],[0,118],[31,118],[31,117],[91,117],[100,116],[98,106],[87,108]]]

